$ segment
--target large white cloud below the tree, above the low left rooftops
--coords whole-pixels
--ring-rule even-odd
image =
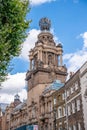
[[[0,102],[12,102],[14,95],[17,93],[20,95],[21,100],[27,98],[27,92],[24,89],[25,86],[25,73],[9,75],[8,80],[2,84],[2,89],[0,90]]]

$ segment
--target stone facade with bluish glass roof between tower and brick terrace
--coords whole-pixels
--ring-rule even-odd
[[[40,104],[40,129],[53,130],[54,129],[54,110],[52,94],[59,89],[63,84],[59,80],[55,80],[52,84],[47,86],[42,92],[39,100]]]

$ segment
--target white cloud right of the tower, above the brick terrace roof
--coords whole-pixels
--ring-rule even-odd
[[[87,60],[87,32],[80,34],[80,37],[83,38],[82,49],[77,52],[64,55],[64,60],[68,66],[68,72],[77,71],[77,69],[79,69]]]

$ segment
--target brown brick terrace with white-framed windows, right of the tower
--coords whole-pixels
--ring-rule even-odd
[[[84,82],[84,83],[83,83]],[[87,62],[53,93],[58,130],[86,130],[87,112],[84,98],[87,83]]]

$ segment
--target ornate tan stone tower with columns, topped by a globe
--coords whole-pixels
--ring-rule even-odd
[[[62,45],[56,45],[50,33],[51,21],[42,18],[39,26],[41,33],[35,47],[29,52],[30,70],[26,74],[28,106],[32,102],[39,103],[39,95],[48,84],[56,79],[64,83],[67,76],[67,69],[62,60]]]

